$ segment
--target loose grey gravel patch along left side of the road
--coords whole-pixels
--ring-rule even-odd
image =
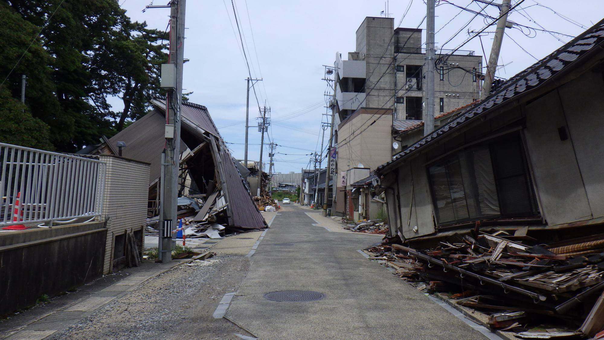
[[[240,339],[234,333],[245,330],[211,314],[225,293],[239,289],[248,268],[236,255],[184,264],[50,339]]]

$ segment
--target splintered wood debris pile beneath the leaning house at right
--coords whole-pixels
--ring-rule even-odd
[[[457,299],[519,338],[604,331],[604,234],[551,244],[518,236],[474,232],[430,249],[384,243],[365,252],[417,289]]]

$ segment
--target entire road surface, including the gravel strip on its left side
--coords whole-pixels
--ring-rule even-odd
[[[341,229],[335,222],[317,217],[317,224],[309,215],[318,216],[286,204],[253,255],[244,255],[248,250],[219,253],[213,261],[177,267],[53,338],[485,339],[356,251],[381,237],[334,232]],[[265,298],[284,290],[324,297],[306,302]],[[225,315],[232,322],[215,319],[223,295],[233,292]]]

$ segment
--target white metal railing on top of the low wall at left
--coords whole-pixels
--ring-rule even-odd
[[[0,227],[100,217],[105,162],[4,143],[0,162]]]

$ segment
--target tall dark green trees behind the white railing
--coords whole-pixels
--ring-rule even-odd
[[[45,123],[54,148],[74,152],[149,110],[152,94],[162,93],[167,34],[131,22],[115,0],[61,2],[0,2],[0,82],[19,99],[25,74],[26,111]],[[111,111],[111,96],[124,101],[123,111]],[[2,117],[13,111],[0,106]],[[17,131],[3,132],[19,140]]]

